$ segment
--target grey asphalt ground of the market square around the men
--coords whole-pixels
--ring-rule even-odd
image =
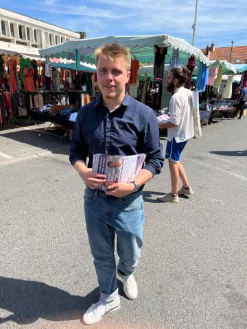
[[[0,131],[0,328],[86,328],[98,289],[69,142],[10,128]],[[146,184],[139,297],[121,293],[120,310],[90,328],[247,328],[246,131],[244,117],[189,141],[181,162],[195,195],[179,204],[156,202],[170,190],[167,163]]]

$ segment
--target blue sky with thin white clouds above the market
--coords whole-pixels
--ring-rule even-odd
[[[12,0],[3,8],[86,32],[109,35],[169,34],[192,40],[196,0]],[[198,0],[195,46],[247,45],[246,0]]]

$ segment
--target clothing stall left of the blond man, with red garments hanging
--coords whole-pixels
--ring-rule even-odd
[[[95,96],[95,71],[84,63],[77,70],[73,60],[0,56],[0,123],[28,116],[73,127],[71,114]]]

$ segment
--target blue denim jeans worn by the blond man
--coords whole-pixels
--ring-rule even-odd
[[[144,221],[142,191],[118,198],[86,187],[84,210],[101,297],[110,302],[118,294],[115,234],[119,255],[117,269],[123,277],[128,278],[133,273],[141,257]]]

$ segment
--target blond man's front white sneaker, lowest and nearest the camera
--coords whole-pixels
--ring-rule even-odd
[[[113,302],[106,302],[105,300],[99,300],[96,304],[93,304],[86,310],[83,315],[82,321],[84,324],[95,324],[100,321],[104,315],[113,312],[113,310],[118,310],[120,308],[120,298],[119,295],[113,300]]]

